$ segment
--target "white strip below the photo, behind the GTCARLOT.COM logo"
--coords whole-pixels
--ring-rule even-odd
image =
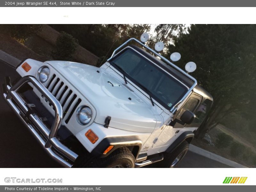
[[[255,168],[2,168],[0,185],[255,185],[255,174]],[[63,182],[13,184],[5,183],[6,177]],[[226,177],[248,178],[244,184],[223,184]]]

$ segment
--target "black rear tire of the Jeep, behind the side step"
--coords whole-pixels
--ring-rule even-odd
[[[164,160],[160,162],[160,166],[164,168],[174,168],[186,155],[188,148],[189,143],[187,141],[183,141],[172,153],[164,154]]]

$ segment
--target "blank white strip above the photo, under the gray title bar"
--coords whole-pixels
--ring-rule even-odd
[[[255,7],[1,7],[0,23],[255,24],[255,12]]]

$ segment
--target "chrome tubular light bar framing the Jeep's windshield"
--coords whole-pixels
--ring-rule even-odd
[[[116,52],[118,50],[120,50],[124,45],[126,45],[127,43],[129,43],[130,41],[135,41],[138,44],[140,44],[141,46],[145,47],[146,49],[148,49],[149,51],[151,51],[152,53],[154,53],[155,55],[157,55],[158,57],[160,57],[161,59],[163,59],[165,62],[167,62],[169,65],[171,65],[171,67],[177,69],[178,71],[180,71],[183,75],[187,76],[188,78],[190,78],[192,81],[194,81],[194,84],[189,88],[188,92],[180,99],[179,102],[177,102],[172,109],[170,110],[173,114],[176,112],[176,108],[180,105],[180,103],[186,99],[186,97],[189,95],[189,93],[194,89],[194,87],[197,85],[197,81],[194,77],[192,77],[191,75],[189,75],[188,73],[186,73],[184,70],[182,70],[181,68],[179,68],[178,66],[174,65],[171,61],[167,60],[165,57],[163,57],[162,55],[160,55],[158,52],[154,51],[153,49],[151,49],[150,47],[148,47],[147,45],[143,44],[142,42],[140,42],[138,39],[135,38],[131,38],[128,39],[126,42],[124,42],[122,45],[120,45],[119,47],[117,47],[114,52],[112,53],[111,57],[108,59],[111,60]]]

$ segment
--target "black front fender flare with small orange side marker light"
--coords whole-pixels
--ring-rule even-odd
[[[114,147],[107,153],[103,154],[103,152],[110,146]],[[117,148],[127,147],[131,150],[135,159],[138,158],[140,153],[140,148],[142,146],[142,142],[138,136],[118,136],[118,137],[107,137],[104,138],[93,150],[92,155],[104,158],[109,156],[113,151]]]

